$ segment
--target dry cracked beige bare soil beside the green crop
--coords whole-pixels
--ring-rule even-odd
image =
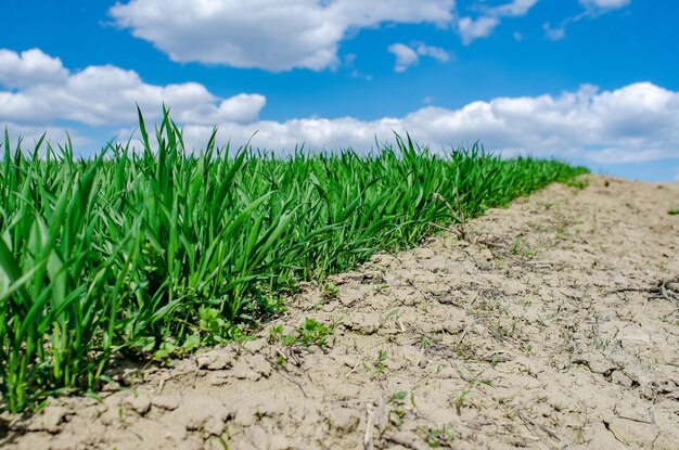
[[[677,449],[679,184],[587,179],[307,286],[241,347],[0,423],[0,447]],[[269,338],[306,318],[338,322],[323,348]]]

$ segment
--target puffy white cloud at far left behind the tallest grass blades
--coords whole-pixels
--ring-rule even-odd
[[[34,49],[21,54],[0,50],[0,121],[52,124],[71,120],[90,126],[124,125],[136,120],[136,103],[157,112],[171,105],[177,120],[192,124],[252,123],[266,99],[239,94],[219,99],[203,85],[155,86],[133,70],[112,65],[89,66],[69,73],[61,61]],[[22,74],[27,74],[22,78]]]

